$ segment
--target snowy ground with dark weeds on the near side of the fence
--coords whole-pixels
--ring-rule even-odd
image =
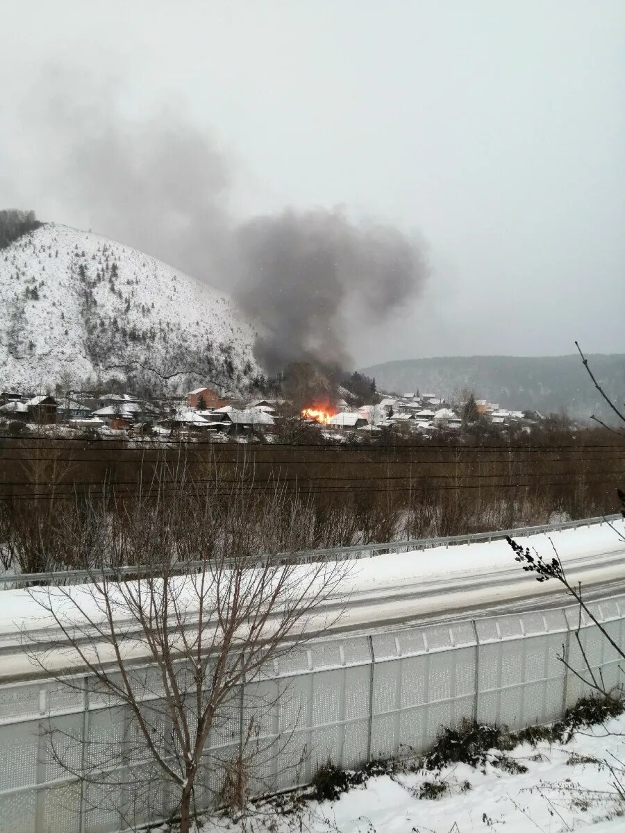
[[[619,734],[620,733],[620,734]],[[336,801],[312,801],[292,815],[271,807],[250,808],[245,821],[213,816],[202,833],[564,833],[625,830],[625,803],[610,766],[625,761],[625,716],[576,733],[568,744],[525,743],[506,755],[527,772],[511,774],[491,761],[483,769],[467,764],[431,771],[377,776]],[[621,782],[625,773],[617,772]],[[420,797],[426,782],[442,784],[441,797]]]

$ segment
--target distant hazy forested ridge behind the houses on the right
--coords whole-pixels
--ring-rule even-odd
[[[622,405],[625,354],[597,353],[587,359],[605,392]],[[450,397],[463,388],[471,388],[477,397],[515,410],[549,413],[564,409],[577,419],[587,419],[592,413],[602,419],[611,416],[577,355],[404,359],[363,367],[361,372],[375,377],[381,391],[419,390]]]

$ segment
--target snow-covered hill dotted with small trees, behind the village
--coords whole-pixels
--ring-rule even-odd
[[[46,223],[0,251],[0,389],[244,389],[254,335],[228,297],[92,232]]]

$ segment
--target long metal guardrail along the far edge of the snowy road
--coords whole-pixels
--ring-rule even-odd
[[[458,546],[459,544],[473,544],[485,541],[501,541],[508,536],[524,537],[541,535],[543,532],[559,532],[565,529],[579,529],[581,526],[594,526],[605,522],[617,521],[621,515],[606,515],[591,518],[582,518],[578,521],[562,521],[556,524],[542,524],[541,526],[517,526],[513,529],[505,529],[491,532],[473,532],[469,535],[452,535],[438,538],[413,538],[408,541],[388,541],[383,544],[357,544],[355,546],[336,546],[330,549],[301,550],[293,553],[278,553],[271,556],[272,559],[281,561],[320,561],[332,559],[332,556],[339,556],[338,561],[352,561],[359,558],[371,558],[393,552],[410,552],[413,550],[428,550],[433,546]],[[269,557],[269,556],[268,556]],[[263,561],[263,558],[260,559]],[[187,572],[201,570],[205,561],[180,561],[172,566],[173,571]],[[4,574],[0,576],[0,590],[6,589],[7,585],[24,585],[32,582],[39,584],[64,584],[75,583],[81,579],[96,579],[97,576],[107,578],[121,578],[122,576],[140,576],[147,574],[149,567],[141,565],[123,566],[116,568],[93,568],[91,570],[65,570],[37,573],[20,573],[18,575]]]

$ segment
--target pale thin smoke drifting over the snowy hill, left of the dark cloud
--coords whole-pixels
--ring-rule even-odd
[[[18,148],[11,203],[32,205],[40,219],[92,228],[232,288],[232,161],[178,102],[133,120],[123,112],[123,92],[110,79],[50,67],[13,115],[32,144],[26,153]]]

